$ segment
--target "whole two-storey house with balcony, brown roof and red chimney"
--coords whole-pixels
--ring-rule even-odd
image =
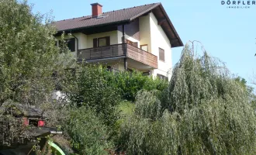
[[[54,22],[61,33],[71,33],[67,46],[78,62],[102,63],[119,71],[135,69],[170,79],[171,48],[182,47],[161,3],[102,12],[92,4],[92,15]],[[57,46],[59,42],[57,42]]]

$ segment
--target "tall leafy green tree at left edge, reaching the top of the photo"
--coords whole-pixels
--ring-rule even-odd
[[[67,49],[60,54],[55,46],[50,16],[34,15],[31,9],[26,1],[0,1],[0,106],[10,102],[41,108],[50,105],[50,92],[60,85],[64,68],[72,64]],[[0,122],[11,120],[12,115],[6,114],[0,112]],[[0,133],[16,131],[0,129]],[[12,141],[1,136],[2,140]]]

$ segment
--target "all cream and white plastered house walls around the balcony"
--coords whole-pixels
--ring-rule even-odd
[[[151,71],[151,75],[154,77],[157,74],[162,74],[164,76],[168,76],[171,78],[171,43],[168,40],[168,36],[164,33],[164,30],[161,26],[158,25],[157,19],[152,12],[147,15],[141,16],[139,19],[131,22],[130,24],[125,26],[125,37],[127,40],[131,40],[133,42],[138,43],[138,47],[140,45],[147,44],[148,52],[153,53],[157,56],[158,60],[158,69]],[[117,30],[110,31],[106,33],[95,33],[91,35],[85,35],[83,33],[74,33],[74,36],[78,38],[78,49],[86,49],[93,47],[93,39],[100,38],[105,36],[110,36],[110,44],[122,43],[123,36],[123,28],[122,26],[118,26]],[[73,36],[70,36],[73,37]],[[59,37],[59,39],[61,39]],[[77,50],[77,40],[76,50]],[[164,61],[159,60],[159,47],[164,49]],[[76,52],[73,53],[74,56]],[[129,65],[129,64],[128,64]],[[123,62],[116,65],[116,69],[121,71],[124,70]]]

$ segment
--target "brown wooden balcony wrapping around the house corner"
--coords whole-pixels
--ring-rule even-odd
[[[78,61],[85,60],[88,62],[126,57],[128,66],[144,69],[157,68],[157,56],[127,43],[78,50],[77,57]]]

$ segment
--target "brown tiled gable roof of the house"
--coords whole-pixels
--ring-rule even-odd
[[[87,29],[95,26],[131,22],[133,19],[137,19],[137,17],[144,15],[147,12],[156,13],[157,19],[167,19],[166,22],[161,25],[161,27],[167,34],[168,39],[171,42],[171,47],[183,46],[182,40],[178,36],[175,27],[172,25],[171,20],[168,18],[168,15],[164,11],[164,8],[160,2],[149,5],[134,6],[128,9],[114,10],[111,12],[103,12],[102,15],[99,15],[96,18],[92,18],[92,15],[87,15],[74,19],[64,19],[54,22],[54,25],[57,27],[58,33],[61,33],[63,31],[73,31],[78,29]]]

